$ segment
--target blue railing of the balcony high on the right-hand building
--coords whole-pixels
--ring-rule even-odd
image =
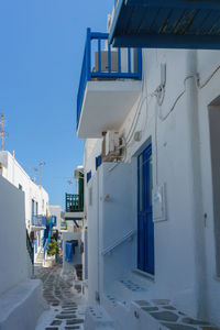
[[[90,29],[87,29],[86,46],[77,96],[77,128],[79,124],[87,81],[97,79],[142,79],[141,48],[136,48],[134,52],[132,52],[132,48],[112,48],[108,38],[108,33],[91,32]],[[95,41],[95,43],[92,43],[92,41]],[[124,53],[127,53],[125,56]],[[124,62],[127,62],[125,66]]]

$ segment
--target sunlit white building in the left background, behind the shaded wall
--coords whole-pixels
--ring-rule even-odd
[[[35,254],[41,250],[44,217],[48,216],[48,194],[36,185],[8,151],[0,152],[0,173],[13,186],[24,191],[25,223],[29,233],[35,232]]]

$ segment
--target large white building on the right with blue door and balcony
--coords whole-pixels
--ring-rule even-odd
[[[188,6],[190,12],[199,4]],[[121,15],[128,8],[118,1]],[[88,30],[87,45],[108,37],[100,35]],[[125,32],[123,37],[114,45],[144,42]],[[103,319],[119,330],[201,329],[186,316],[220,326],[220,53],[164,50],[156,37],[142,58],[138,51],[120,51],[112,72],[100,46],[99,65],[95,61],[79,85],[88,297],[100,305],[88,310],[86,329]],[[207,41],[204,48],[211,47]]]

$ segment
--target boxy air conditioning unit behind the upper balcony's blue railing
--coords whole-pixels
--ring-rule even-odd
[[[98,52],[95,53],[95,72],[99,72]],[[118,73],[118,52],[111,52],[111,73]],[[109,56],[108,51],[101,52],[101,72],[109,72]]]

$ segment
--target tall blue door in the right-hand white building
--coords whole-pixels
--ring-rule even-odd
[[[154,275],[151,145],[138,157],[138,268]]]

